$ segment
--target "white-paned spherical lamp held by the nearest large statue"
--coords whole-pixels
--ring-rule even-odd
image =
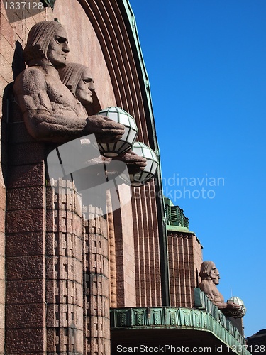
[[[106,109],[99,111],[98,114],[106,116],[109,119],[118,122],[118,124],[123,124],[125,126],[125,133],[116,143],[98,143],[101,154],[108,158],[113,158],[129,151],[138,135],[138,127],[135,124],[135,119],[133,119],[133,117],[126,111],[116,106],[107,107]]]

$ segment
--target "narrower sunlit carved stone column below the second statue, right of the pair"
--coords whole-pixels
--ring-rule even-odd
[[[110,354],[109,240],[107,221],[89,206],[84,224],[84,354]]]

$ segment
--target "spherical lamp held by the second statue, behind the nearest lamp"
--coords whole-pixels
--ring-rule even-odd
[[[146,146],[144,143],[135,142],[133,144],[132,151],[147,160],[147,165],[144,170],[140,171],[140,173],[130,175],[131,185],[138,187],[145,185],[155,176],[159,160],[155,154],[155,151],[150,149],[150,147]]]

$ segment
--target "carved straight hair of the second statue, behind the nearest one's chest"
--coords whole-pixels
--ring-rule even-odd
[[[72,94],[76,93],[77,84],[82,77],[82,72],[87,69],[85,65],[77,63],[67,63],[65,67],[59,70],[61,81],[70,89]]]

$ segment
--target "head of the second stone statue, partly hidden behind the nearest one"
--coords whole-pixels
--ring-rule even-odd
[[[62,83],[65,84],[72,94],[77,97],[84,106],[92,104],[94,81],[88,67],[77,63],[68,63],[59,70]]]

